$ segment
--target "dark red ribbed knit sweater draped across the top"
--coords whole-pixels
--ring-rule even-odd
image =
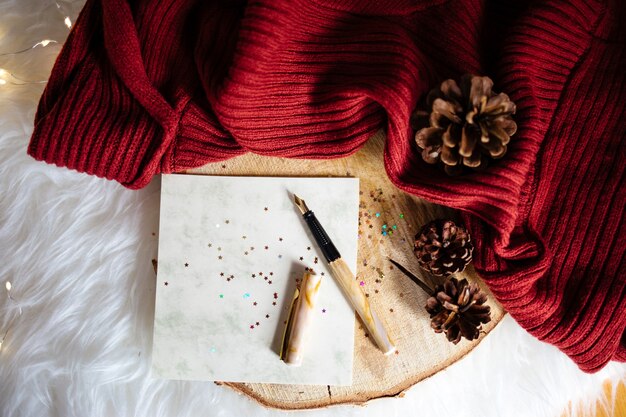
[[[335,158],[380,128],[399,188],[460,209],[511,315],[583,370],[626,360],[626,2],[88,0],[33,157],[140,188],[239,155]],[[518,133],[487,171],[422,162],[409,115],[489,75]]]

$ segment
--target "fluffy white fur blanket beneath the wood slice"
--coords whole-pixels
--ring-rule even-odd
[[[0,1],[0,54],[62,42],[64,16],[75,19],[81,0],[58,4]],[[58,51],[51,44],[3,55],[0,67],[45,80]],[[159,181],[129,191],[31,160],[26,146],[43,84],[11,82],[0,85],[0,338],[8,331],[0,417],[282,414],[212,382],[150,378]],[[570,401],[593,403],[604,380],[625,375],[617,363],[584,374],[507,317],[404,398],[298,414],[553,417]]]

